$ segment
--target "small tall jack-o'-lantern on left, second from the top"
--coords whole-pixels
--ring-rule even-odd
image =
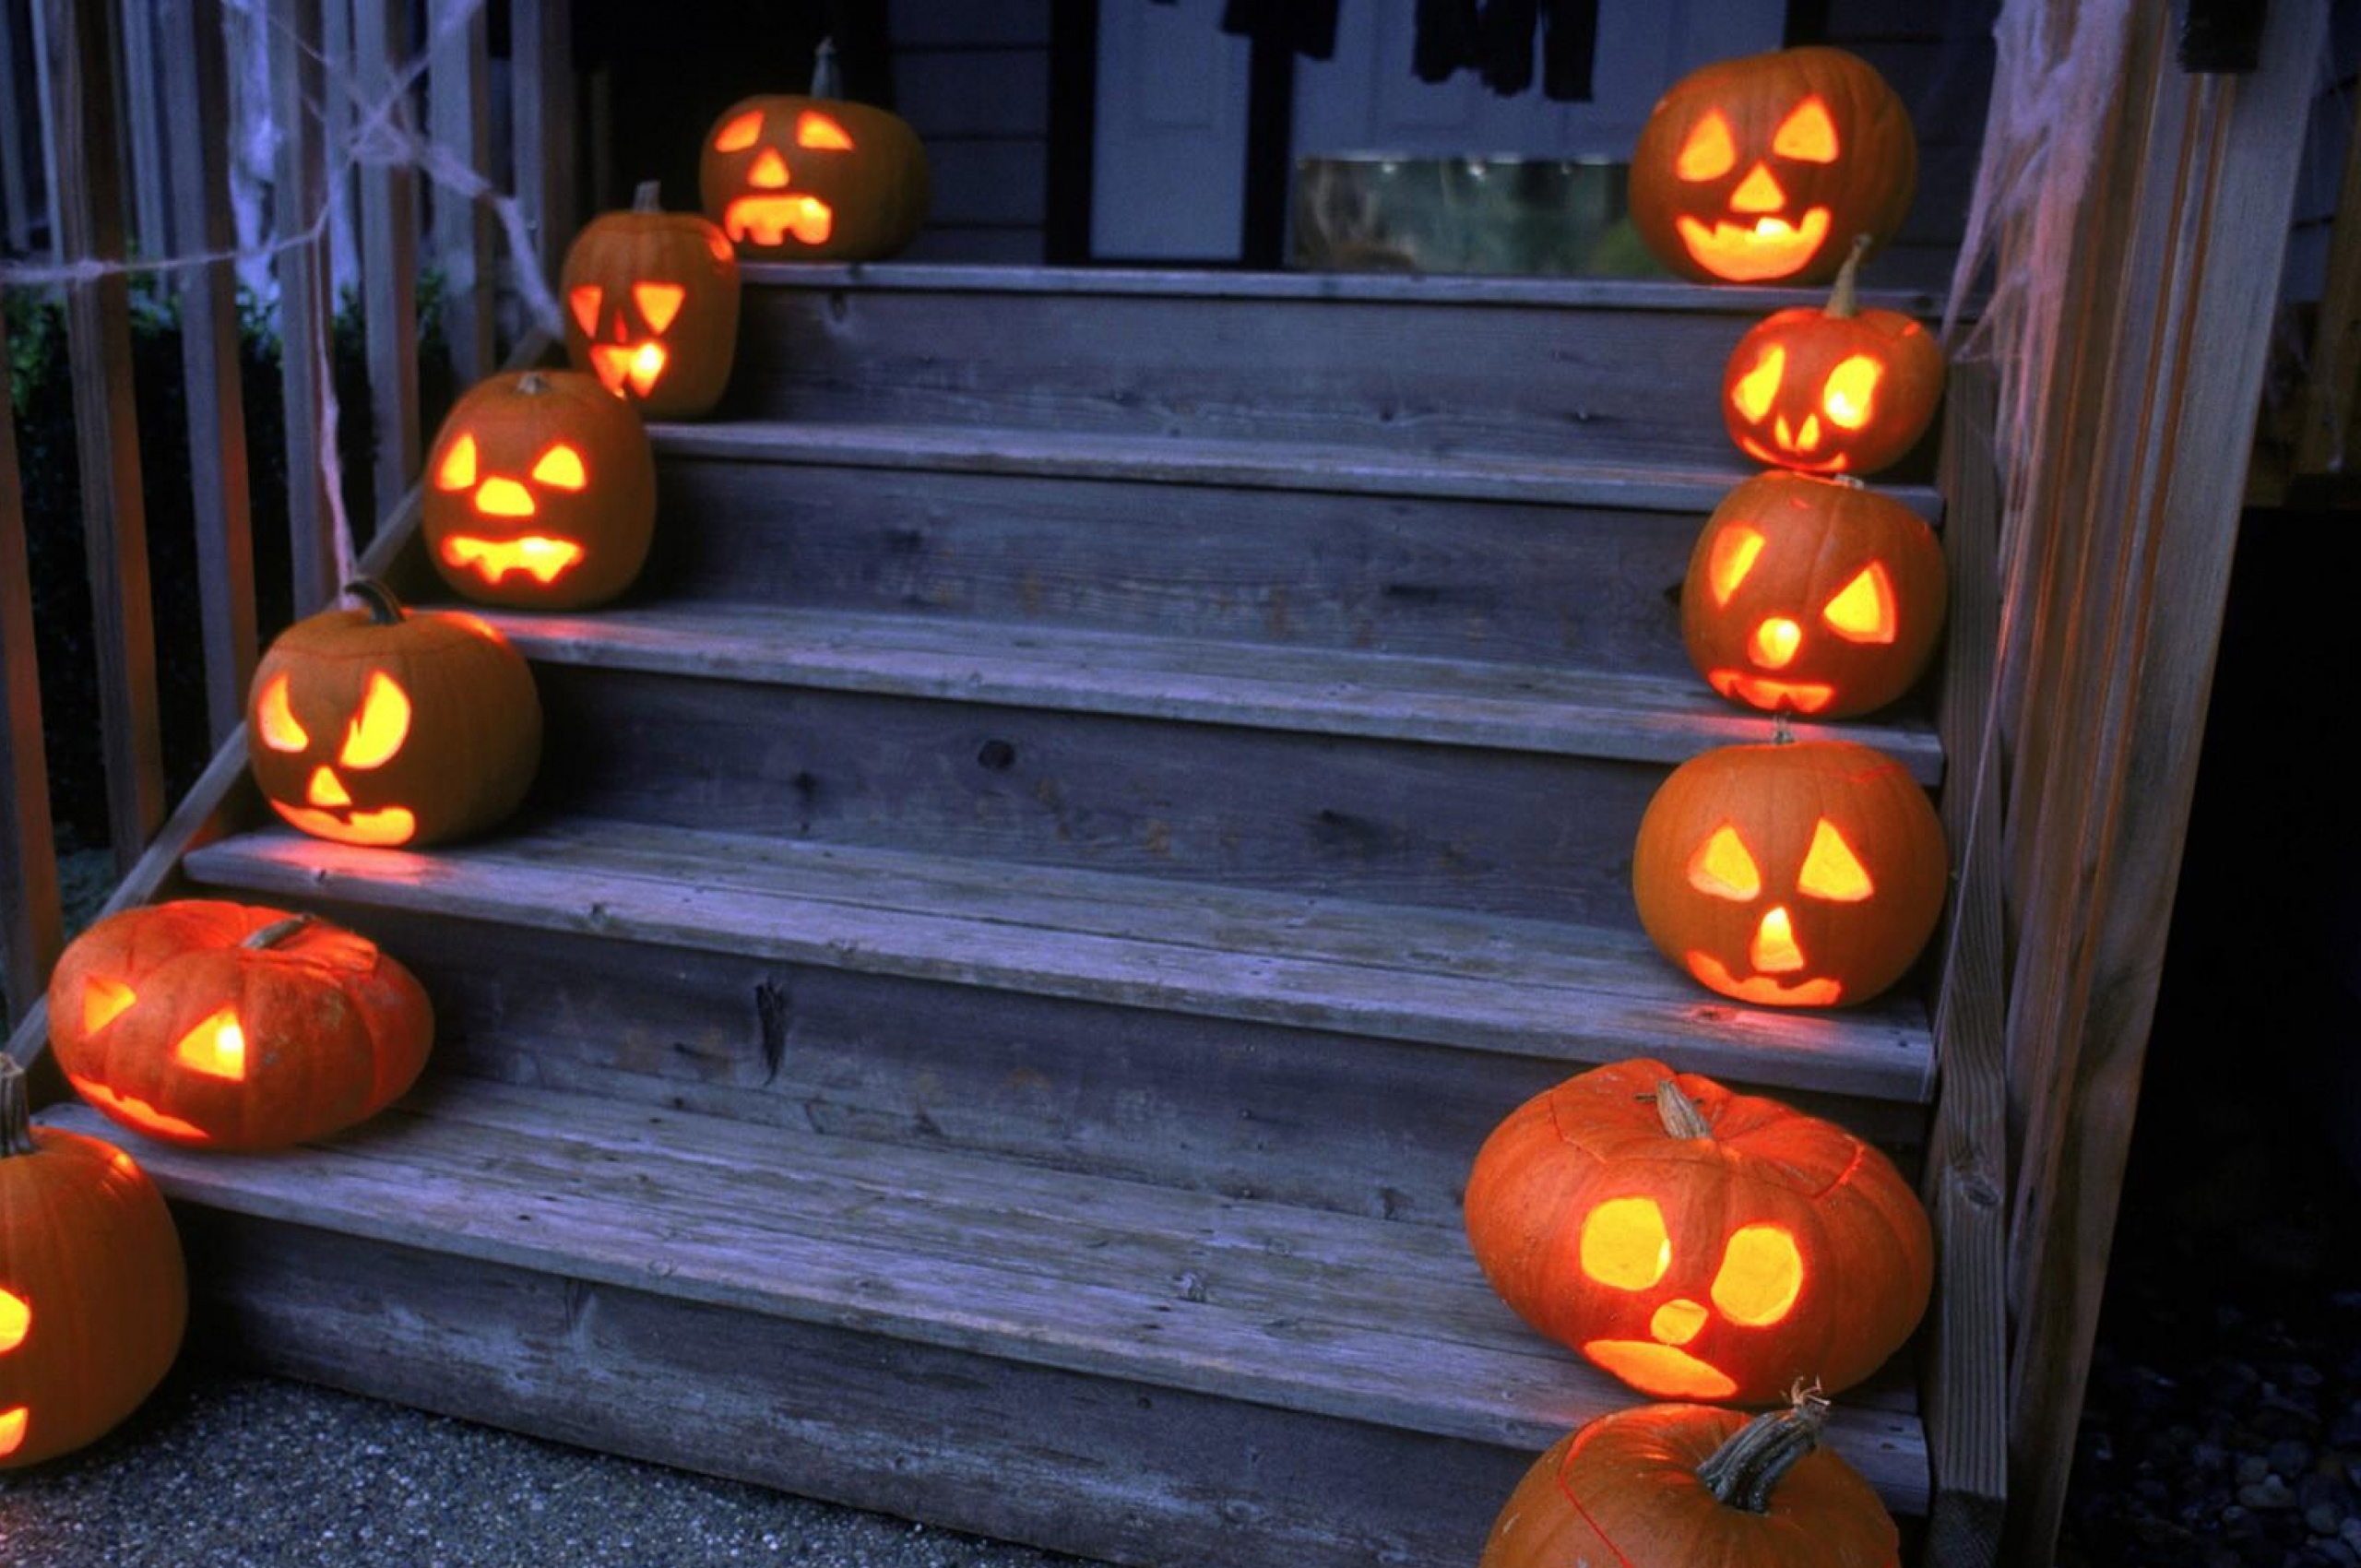
[[[567,248],[567,359],[645,418],[708,413],[737,359],[737,250],[694,213],[656,205],[642,184],[630,213],[595,217]]]

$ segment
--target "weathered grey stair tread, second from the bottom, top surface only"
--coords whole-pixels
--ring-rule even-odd
[[[1636,937],[1551,923],[623,827],[434,857],[255,834],[201,850],[189,871],[283,897],[1568,1065],[1648,1048],[1754,1084],[1905,1103],[1931,1091],[1908,999],[1740,1008]]]

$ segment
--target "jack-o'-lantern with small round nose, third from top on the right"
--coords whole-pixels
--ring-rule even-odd
[[[1844,718],[1910,690],[1943,635],[1945,595],[1943,545],[1908,505],[1773,470],[1705,520],[1681,640],[1731,701]]]

